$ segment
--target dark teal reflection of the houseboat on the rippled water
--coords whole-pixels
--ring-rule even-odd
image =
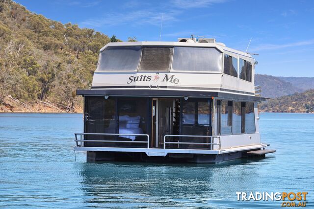
[[[83,194],[89,197],[84,203],[93,207],[208,207],[220,204],[222,199],[225,204],[233,205],[234,184],[255,184],[259,178],[257,169],[248,171],[243,167],[263,161],[162,165],[83,163],[80,184]]]

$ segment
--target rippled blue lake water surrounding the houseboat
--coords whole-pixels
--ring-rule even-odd
[[[0,114],[0,208],[273,208],[237,191],[307,191],[314,207],[314,114],[260,114],[277,152],[220,164],[86,163],[81,114]]]

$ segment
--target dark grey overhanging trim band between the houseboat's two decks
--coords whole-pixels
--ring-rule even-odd
[[[77,90],[78,95],[112,95],[112,96],[149,96],[149,97],[222,97],[230,99],[244,99],[254,101],[265,101],[265,98],[259,96],[241,95],[234,93],[221,92],[202,92],[202,91],[175,91],[175,90],[149,90],[149,89],[90,89]]]

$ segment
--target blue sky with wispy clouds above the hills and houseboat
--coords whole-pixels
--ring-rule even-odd
[[[32,12],[126,41],[206,36],[248,52],[257,73],[314,77],[314,0],[16,0]]]

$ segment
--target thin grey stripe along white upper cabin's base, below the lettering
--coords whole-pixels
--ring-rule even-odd
[[[185,89],[185,90],[210,90],[210,91],[224,91],[224,92],[233,92],[233,93],[245,93],[255,95],[255,93],[251,92],[242,92],[230,89],[222,89],[222,88],[206,88],[206,87],[184,87],[184,86],[158,86],[159,89]],[[119,88],[144,88],[147,89],[149,86],[97,86],[92,87],[92,89],[119,89]],[[151,89],[157,89],[156,86],[152,86]]]

